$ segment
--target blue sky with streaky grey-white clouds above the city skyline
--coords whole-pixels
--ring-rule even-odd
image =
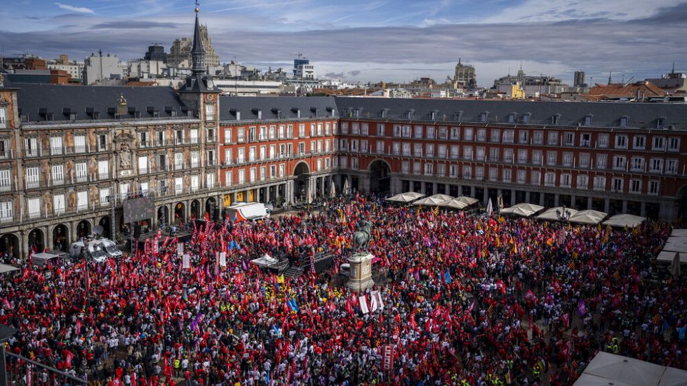
[[[192,35],[190,0],[18,0],[0,8],[5,56],[82,60],[102,49],[127,60],[150,43]],[[572,82],[687,70],[687,2],[679,0],[205,0],[201,22],[222,61],[289,67],[304,53],[321,76],[403,81],[452,75],[458,58],[477,81],[515,73]],[[617,77],[617,78],[616,78]]]

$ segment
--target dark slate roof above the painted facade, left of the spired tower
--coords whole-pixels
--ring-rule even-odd
[[[14,84],[19,114],[27,122],[107,121],[115,119],[117,100],[126,99],[119,119],[185,117],[187,108],[168,87],[59,86]],[[28,116],[26,119],[25,116]]]

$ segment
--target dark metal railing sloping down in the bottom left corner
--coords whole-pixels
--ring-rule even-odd
[[[87,381],[53,367],[5,351],[8,386],[64,385],[85,386]],[[4,386],[4,385],[0,385]]]

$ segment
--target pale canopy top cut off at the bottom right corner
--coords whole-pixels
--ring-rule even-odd
[[[687,386],[687,371],[600,351],[575,386]]]

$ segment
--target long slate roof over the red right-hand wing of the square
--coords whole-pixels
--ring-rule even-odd
[[[663,127],[687,130],[687,105],[661,103],[488,101],[464,99],[396,99],[335,97],[342,118],[390,121],[436,121],[461,123],[515,123],[549,127],[585,126],[620,128]],[[486,116],[484,116],[484,115]],[[515,114],[513,121],[509,116]],[[554,123],[557,117],[558,123]]]

